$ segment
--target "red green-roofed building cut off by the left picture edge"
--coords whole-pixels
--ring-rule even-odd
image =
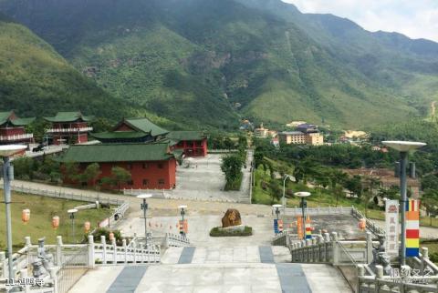
[[[25,127],[35,118],[19,118],[14,111],[0,112],[0,145],[30,144],[34,135]]]

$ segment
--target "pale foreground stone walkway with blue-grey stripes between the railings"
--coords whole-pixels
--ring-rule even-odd
[[[351,292],[336,268],[287,258],[282,247],[170,248],[162,265],[100,267],[70,292]]]

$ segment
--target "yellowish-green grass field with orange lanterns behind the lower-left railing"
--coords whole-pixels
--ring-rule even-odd
[[[2,195],[3,197],[3,195]],[[57,235],[63,237],[64,242],[73,241],[70,235],[71,220],[68,217],[68,209],[78,207],[84,202],[67,199],[57,199],[51,197],[41,197],[13,193],[13,204],[11,205],[13,245],[17,250],[23,247],[24,237],[30,236],[32,243],[37,243],[37,238],[46,237],[47,244],[54,244]],[[30,209],[30,221],[24,224],[21,221],[22,210]],[[77,241],[84,235],[84,222],[91,223],[91,229],[97,226],[99,221],[110,216],[109,208],[81,210],[75,218],[75,230]],[[57,230],[51,226],[52,217],[59,217],[59,227]],[[0,205],[0,249],[6,248],[6,224],[5,224],[5,204]]]

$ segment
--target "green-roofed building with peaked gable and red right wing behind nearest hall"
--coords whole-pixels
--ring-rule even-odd
[[[101,143],[167,143],[186,157],[207,156],[207,136],[201,131],[169,131],[147,118],[123,119],[110,132],[90,134]]]

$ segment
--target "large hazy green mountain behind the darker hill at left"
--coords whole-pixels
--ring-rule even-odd
[[[111,96],[183,124],[231,128],[240,114],[362,128],[425,115],[438,98],[437,44],[280,0],[0,0],[0,10]]]

